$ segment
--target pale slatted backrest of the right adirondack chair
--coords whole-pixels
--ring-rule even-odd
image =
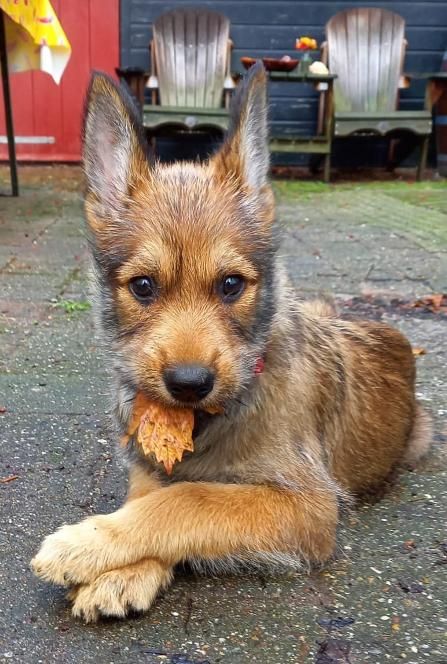
[[[404,33],[404,19],[385,9],[348,9],[328,21],[336,111],[396,110]]]

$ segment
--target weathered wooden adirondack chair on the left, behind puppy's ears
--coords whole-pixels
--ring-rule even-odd
[[[230,75],[230,22],[207,9],[175,9],[153,23],[152,104],[143,105],[149,135],[169,129],[228,128],[228,106],[235,83]]]

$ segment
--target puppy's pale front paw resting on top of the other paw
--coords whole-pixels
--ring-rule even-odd
[[[90,583],[107,569],[113,569],[119,547],[114,547],[107,517],[95,516],[73,526],[63,526],[46,537],[31,561],[37,576],[61,586]]]

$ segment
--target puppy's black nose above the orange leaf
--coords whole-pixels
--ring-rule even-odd
[[[179,364],[163,372],[169,393],[179,401],[200,401],[214,386],[214,373],[198,364]]]

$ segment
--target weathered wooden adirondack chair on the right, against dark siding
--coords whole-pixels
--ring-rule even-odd
[[[399,89],[409,87],[411,79],[403,74],[407,45],[404,32],[404,19],[393,12],[348,9],[327,23],[322,59],[331,73],[337,75],[334,137],[385,136],[398,130],[413,132],[421,143],[419,180],[426,165],[432,131],[431,100],[426,97],[423,110],[398,110]]]

